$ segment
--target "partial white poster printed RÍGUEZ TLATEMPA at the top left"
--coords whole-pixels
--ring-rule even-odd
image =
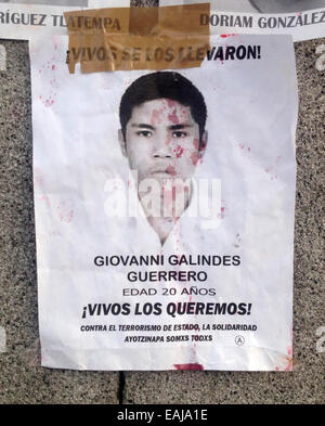
[[[0,0],[0,38],[29,40],[31,37],[66,35],[64,12],[129,7],[129,0]]]

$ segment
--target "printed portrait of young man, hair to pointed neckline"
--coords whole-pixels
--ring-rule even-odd
[[[146,216],[162,245],[191,203],[191,180],[207,145],[205,100],[180,73],[153,73],[138,78],[126,90],[119,114],[121,151],[130,169],[138,172],[139,188],[155,193],[152,196],[158,205],[156,215],[147,211]],[[169,191],[164,191],[168,181],[178,182],[169,202]],[[182,203],[173,206],[180,192]],[[142,202],[145,192],[138,195],[146,210],[147,205]]]

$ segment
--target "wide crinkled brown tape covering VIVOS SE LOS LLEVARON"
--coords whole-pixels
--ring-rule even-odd
[[[66,12],[69,72],[199,67],[210,49],[202,13],[210,3]]]

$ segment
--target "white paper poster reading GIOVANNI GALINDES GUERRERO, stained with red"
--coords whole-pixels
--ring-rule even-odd
[[[42,365],[290,370],[291,37],[212,36],[159,73],[30,44]]]

